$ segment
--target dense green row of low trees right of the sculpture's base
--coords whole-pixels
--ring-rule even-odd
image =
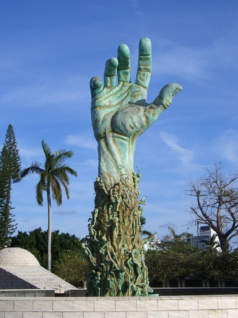
[[[213,237],[206,241],[207,248],[201,249],[190,245],[184,234],[165,235],[146,252],[152,286],[195,287],[195,280],[199,280],[198,287],[225,287],[225,282],[237,286],[238,249],[219,252]]]

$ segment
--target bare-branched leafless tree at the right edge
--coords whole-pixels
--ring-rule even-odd
[[[185,194],[195,197],[190,206],[191,226],[209,225],[217,234],[221,251],[228,252],[229,241],[238,235],[238,176],[226,176],[223,166],[204,168],[204,176],[190,180]]]

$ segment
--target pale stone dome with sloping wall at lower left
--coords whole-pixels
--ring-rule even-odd
[[[0,289],[53,289],[66,293],[77,289],[40,266],[33,254],[19,247],[0,251]]]

